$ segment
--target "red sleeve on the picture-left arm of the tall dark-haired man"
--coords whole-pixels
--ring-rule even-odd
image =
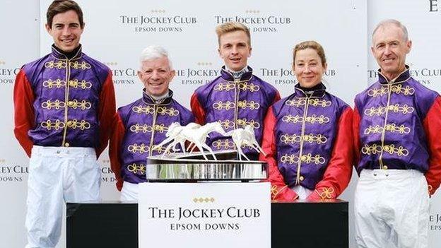
[[[30,157],[33,141],[28,136],[28,131],[35,125],[34,103],[35,96],[30,82],[23,69],[16,76],[13,90],[14,102],[14,134]]]

